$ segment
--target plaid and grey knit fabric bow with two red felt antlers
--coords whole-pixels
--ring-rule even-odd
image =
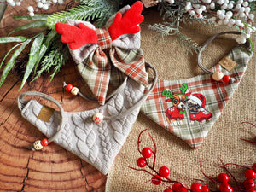
[[[125,6],[102,28],[81,20],[55,25],[61,41],[69,44],[79,73],[101,105],[106,101],[109,82],[119,86],[124,79],[123,73],[148,86],[143,50],[139,49],[138,24],[143,21],[142,10],[141,2],[134,3],[131,8]]]

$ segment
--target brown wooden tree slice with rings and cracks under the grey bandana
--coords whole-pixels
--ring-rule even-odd
[[[26,14],[26,1],[21,4],[21,7],[6,10],[0,23],[1,37],[20,25],[20,21],[13,20],[12,16]],[[0,44],[0,61],[11,47],[10,44]],[[3,67],[0,73],[3,73]],[[49,74],[45,74],[19,91],[20,77],[12,73],[0,88],[0,191],[104,191],[107,177],[57,144],[50,143],[36,152],[27,149],[35,140],[45,136],[21,117],[17,107],[20,93],[29,90],[43,92],[54,97],[68,112],[98,107],[96,103],[64,92],[63,81],[88,92],[73,61],[62,67],[51,83],[49,79]]]

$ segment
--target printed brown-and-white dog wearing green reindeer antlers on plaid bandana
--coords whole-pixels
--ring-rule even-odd
[[[179,89],[182,93],[177,93],[175,95],[172,94],[171,90],[164,90],[162,92],[162,96],[168,97],[166,102],[172,102],[172,107],[166,110],[166,119],[172,126],[183,125],[183,114],[186,113],[184,107],[188,99],[187,96],[185,96],[185,93],[188,90],[188,85],[182,84]]]

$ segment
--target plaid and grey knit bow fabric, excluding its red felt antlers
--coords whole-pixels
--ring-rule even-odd
[[[129,9],[130,6],[126,6],[119,10],[119,13],[125,15]],[[89,30],[96,31],[98,44],[85,44],[79,49],[70,49],[70,53],[78,64],[79,73],[100,105],[106,102],[109,83],[113,82],[111,85],[116,87],[124,79],[124,75],[148,86],[143,50],[139,49],[140,32],[123,34],[112,41],[108,29],[113,24],[113,20],[114,15],[108,20],[106,27],[101,29],[96,29],[89,22],[67,20],[70,26],[79,26],[82,23]]]

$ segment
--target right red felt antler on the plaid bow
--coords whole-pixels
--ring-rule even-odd
[[[143,15],[141,15],[142,11],[143,3],[137,1],[131,6],[125,15],[117,13],[113,20],[113,24],[108,28],[112,41],[123,34],[139,32],[141,28],[137,25],[144,20]]]

